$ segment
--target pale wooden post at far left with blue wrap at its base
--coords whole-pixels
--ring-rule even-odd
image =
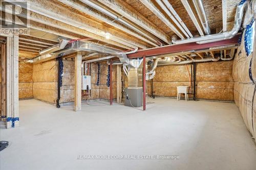
[[[19,125],[18,36],[7,37],[6,49],[6,128],[14,128]]]

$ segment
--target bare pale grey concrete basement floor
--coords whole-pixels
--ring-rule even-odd
[[[148,102],[155,103],[146,111],[93,101],[74,112],[37,100],[20,101],[20,127],[1,129],[1,140],[10,143],[1,152],[0,169],[256,169],[256,145],[235,104],[163,98]]]

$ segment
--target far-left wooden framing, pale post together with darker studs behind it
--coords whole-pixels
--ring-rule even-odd
[[[2,45],[1,56],[1,114],[6,118],[6,128],[17,127],[19,125],[17,35],[6,38],[6,45]]]

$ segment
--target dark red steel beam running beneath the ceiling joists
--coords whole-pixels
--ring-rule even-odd
[[[204,44],[197,44],[196,42],[193,42],[193,43],[180,44],[180,45],[165,45],[162,47],[150,48],[147,50],[139,50],[136,53],[128,54],[127,57],[130,59],[133,59],[133,58],[140,58],[144,56],[152,57],[152,56],[172,54],[172,53],[182,53],[182,52],[189,52],[189,51],[193,52],[196,50],[207,51],[207,49],[211,47],[234,45],[234,44],[236,45],[238,44],[238,39],[239,39],[239,35],[236,35],[233,38],[230,38],[227,40],[204,43]]]

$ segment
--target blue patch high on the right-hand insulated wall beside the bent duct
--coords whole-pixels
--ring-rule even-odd
[[[246,26],[244,35],[245,52],[247,57],[253,51],[253,38],[254,38],[254,18],[252,18],[249,25]]]

